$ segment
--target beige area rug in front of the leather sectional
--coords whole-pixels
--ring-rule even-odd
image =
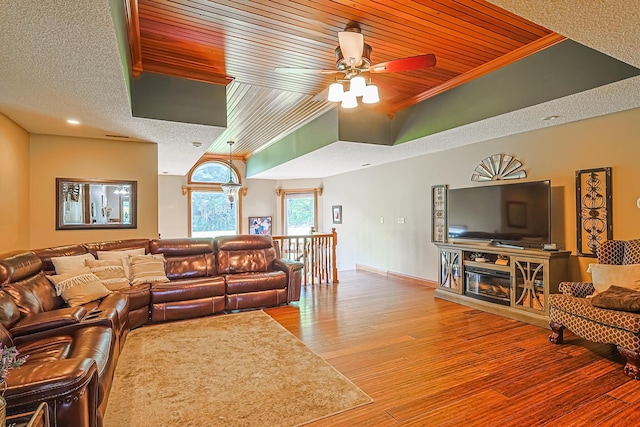
[[[262,311],[131,331],[105,427],[295,426],[372,399]]]

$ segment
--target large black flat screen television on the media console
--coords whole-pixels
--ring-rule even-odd
[[[536,248],[551,242],[551,181],[450,189],[447,204],[449,238]]]

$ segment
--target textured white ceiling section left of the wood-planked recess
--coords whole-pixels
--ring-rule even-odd
[[[224,131],[131,116],[109,1],[2,0],[0,16],[0,112],[29,132],[156,142],[158,171],[183,175]]]

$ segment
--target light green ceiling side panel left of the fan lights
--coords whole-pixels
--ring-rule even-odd
[[[338,140],[338,109],[334,108],[247,159],[247,177],[311,153]]]

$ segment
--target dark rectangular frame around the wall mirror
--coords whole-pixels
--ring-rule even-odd
[[[121,222],[96,224],[96,223],[84,223],[84,224],[65,224],[64,222],[64,195],[63,188],[65,184],[80,184],[80,185],[130,185],[131,191],[129,192],[129,214],[131,216],[131,222],[123,224]],[[56,230],[101,230],[101,229],[114,229],[114,228],[138,228],[138,182],[137,181],[123,181],[116,179],[78,179],[78,178],[56,178]],[[89,202],[83,202],[83,210],[89,209]],[[87,217],[87,215],[85,215]]]

